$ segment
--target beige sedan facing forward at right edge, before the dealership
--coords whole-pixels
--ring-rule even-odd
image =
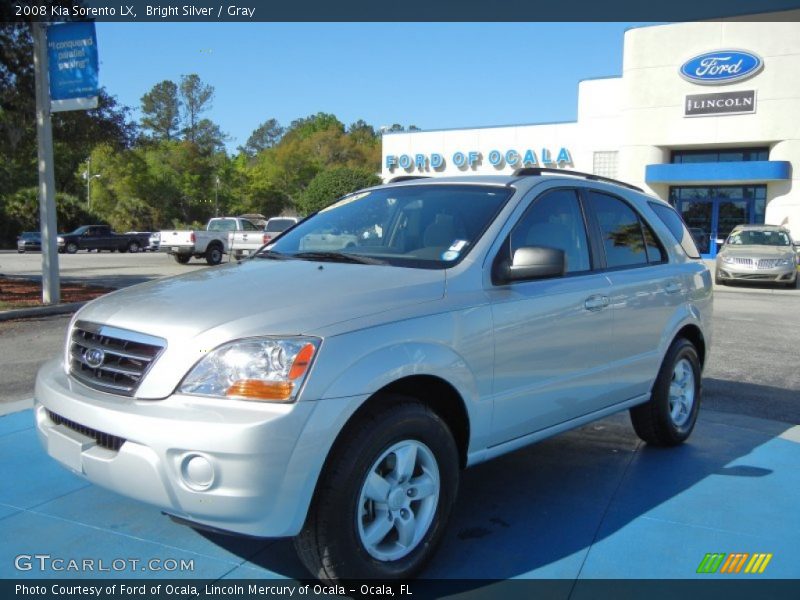
[[[797,286],[797,254],[789,230],[777,225],[737,225],[717,254],[714,281]]]

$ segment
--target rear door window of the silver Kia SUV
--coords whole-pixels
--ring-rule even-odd
[[[634,210],[614,196],[589,192],[600,225],[609,269],[647,264],[642,224]]]

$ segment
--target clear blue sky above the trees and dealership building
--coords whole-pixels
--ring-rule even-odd
[[[197,73],[244,144],[269,118],[421,129],[574,121],[581,79],[618,76],[638,23],[98,23],[100,84],[138,108]]]

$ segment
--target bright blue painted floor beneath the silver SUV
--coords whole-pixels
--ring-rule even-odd
[[[618,415],[465,472],[423,576],[798,578],[798,465],[800,427],[705,411],[689,443],[654,449]],[[0,418],[0,472],[0,577],[305,577],[288,540],[201,533],[69,473],[41,449],[29,410]],[[757,576],[697,575],[713,552],[773,558]],[[25,554],[141,562],[18,571]],[[151,559],[193,570],[142,571]]]

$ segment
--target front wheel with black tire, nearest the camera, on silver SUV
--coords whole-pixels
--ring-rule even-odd
[[[429,407],[385,400],[396,403],[341,436],[295,538],[320,580],[413,577],[444,533],[459,479],[453,435]]]

